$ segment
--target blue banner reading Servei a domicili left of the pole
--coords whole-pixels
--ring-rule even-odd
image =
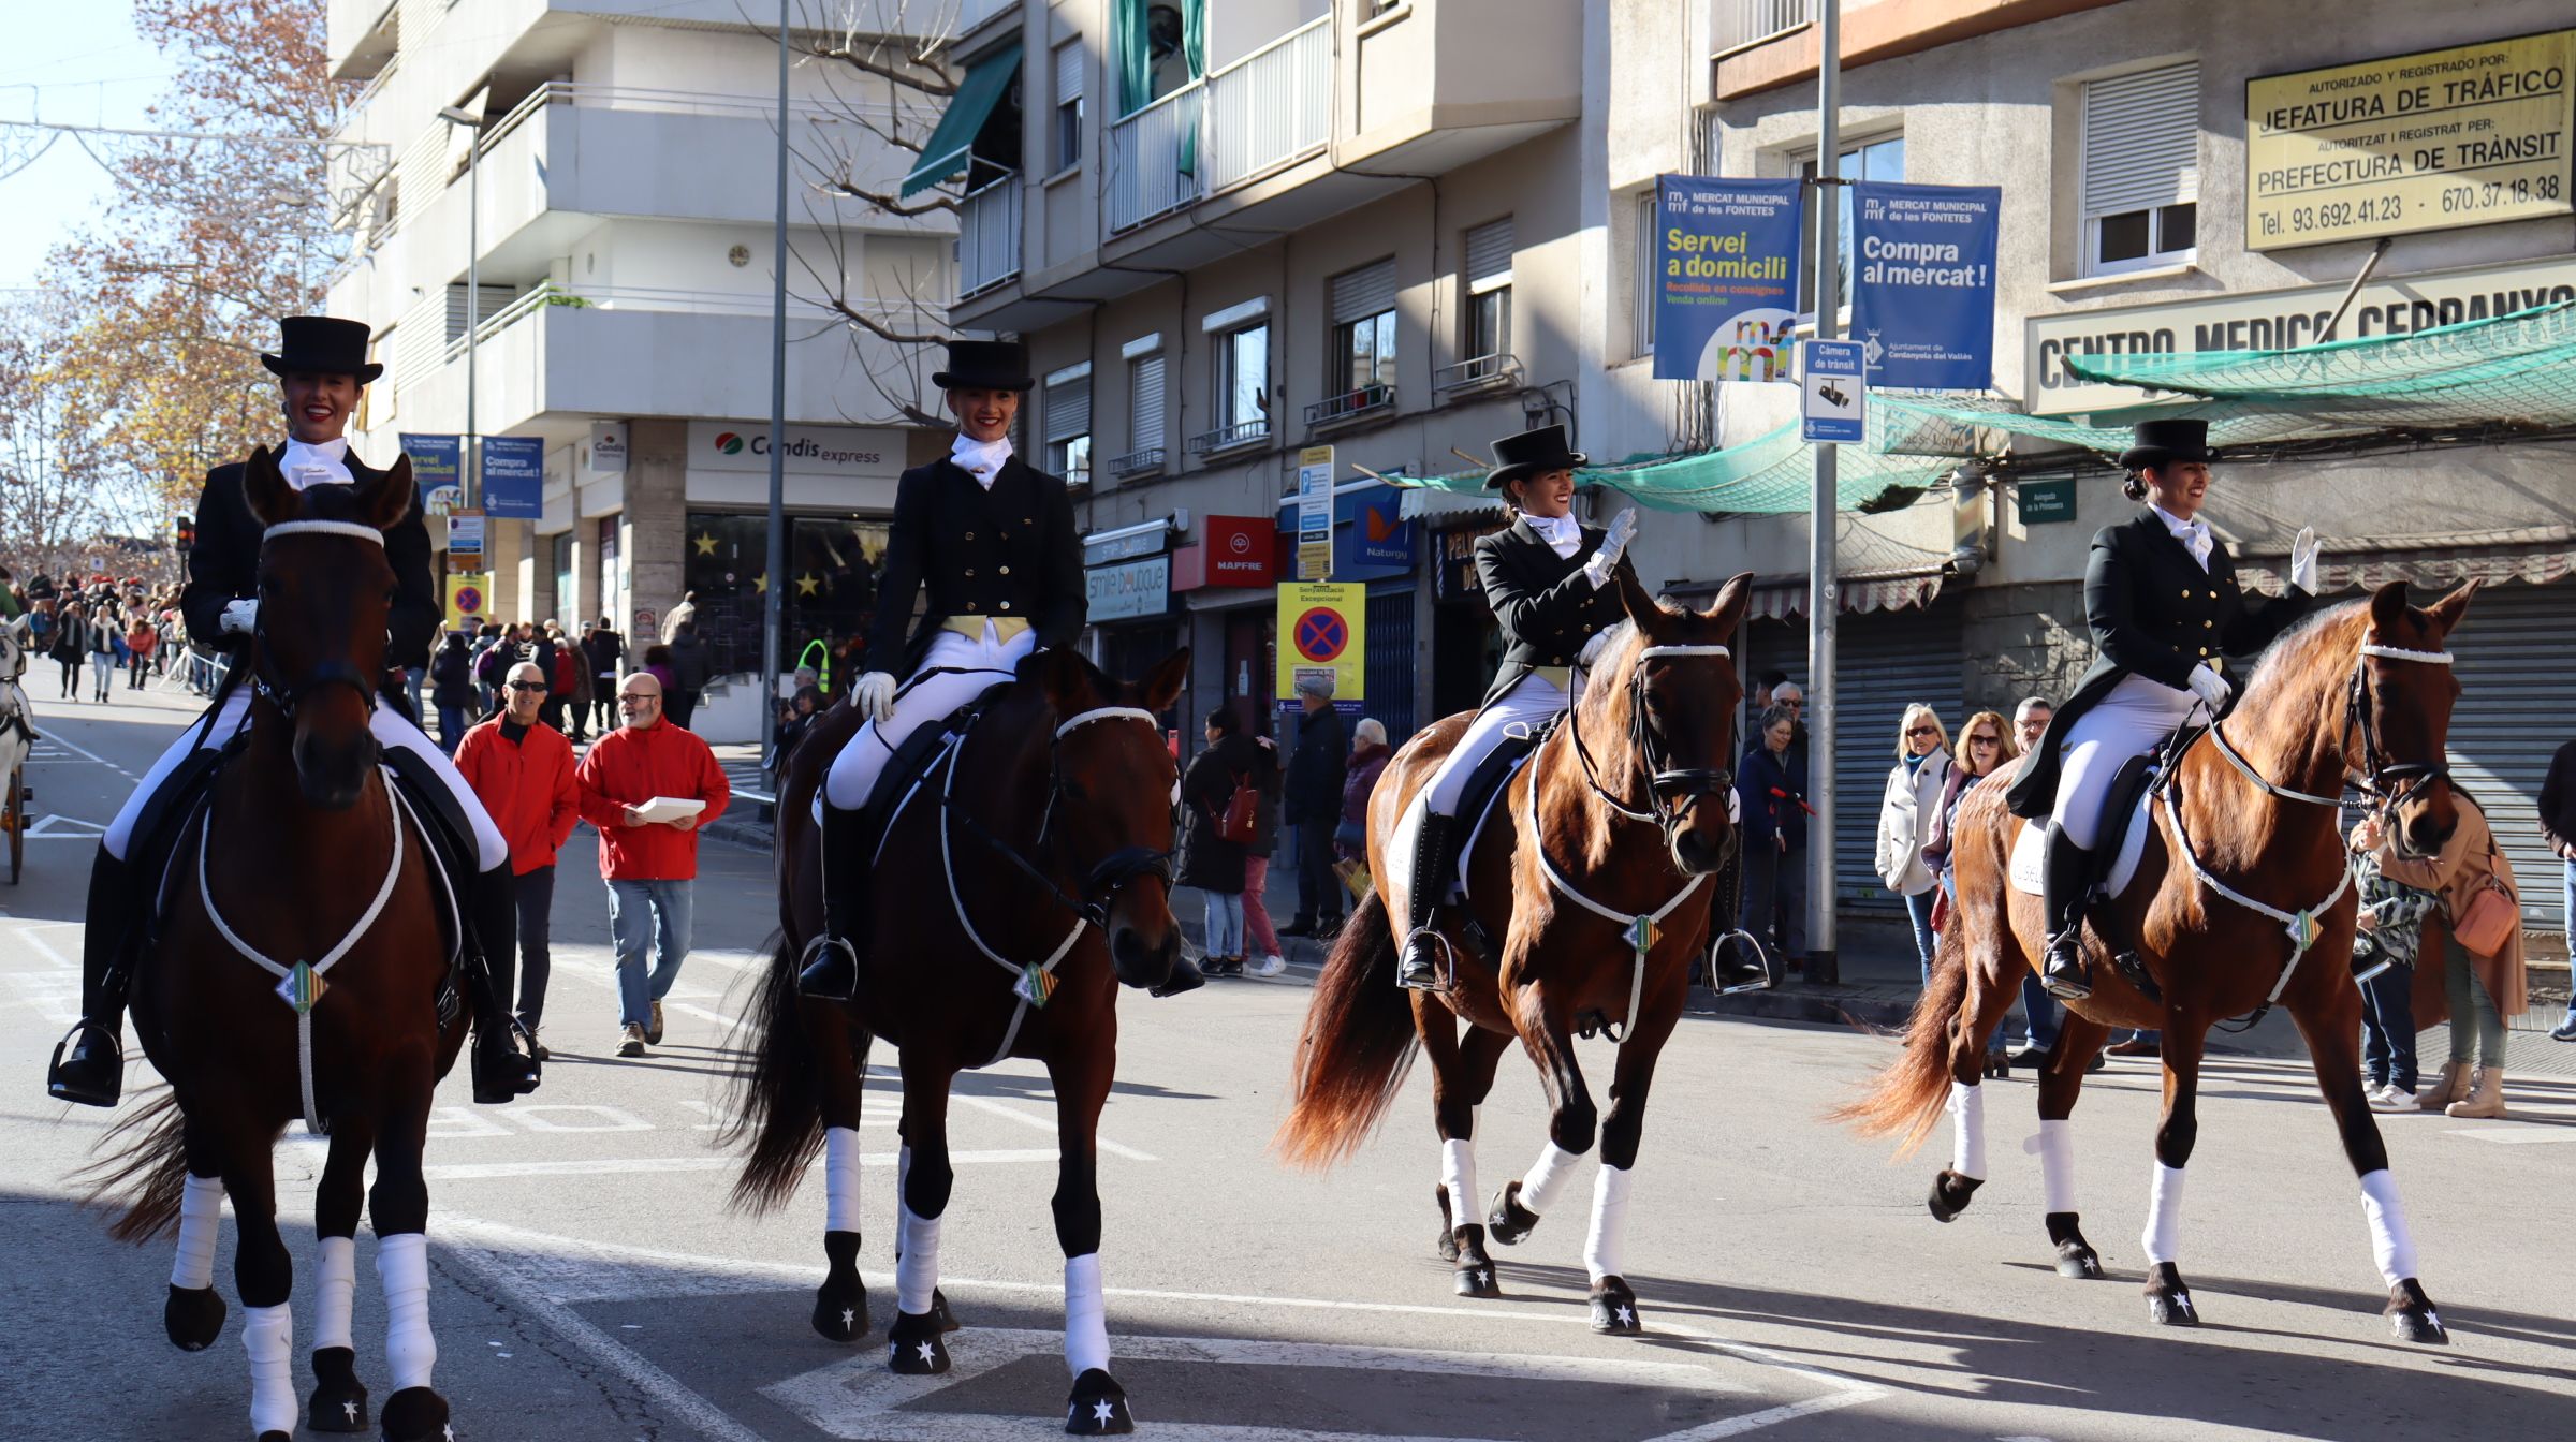
[[[1656,381],[1790,379],[1806,229],[1798,188],[1798,180],[1656,178]]]

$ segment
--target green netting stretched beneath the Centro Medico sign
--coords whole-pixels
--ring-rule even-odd
[[[2213,445],[2370,430],[2576,425],[2576,301],[2411,335],[2295,350],[2069,355],[2076,379],[2138,386],[2138,404],[2081,417],[2020,415],[2007,397],[1870,391],[1870,448],[1991,456],[2009,435],[2117,453],[2141,417],[2210,422]]]

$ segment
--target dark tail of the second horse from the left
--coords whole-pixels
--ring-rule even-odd
[[[716,1138],[744,1148],[732,1205],[755,1215],[793,1197],[822,1151],[822,1056],[804,1030],[796,953],[786,932],[770,932],[760,950],[765,968],[755,973],[752,1004],[729,1040],[744,1061],[734,1069]]]

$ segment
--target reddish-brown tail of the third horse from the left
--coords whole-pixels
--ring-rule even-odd
[[[1296,1105],[1270,1148],[1293,1166],[1332,1166],[1396,1100],[1414,1058],[1414,1009],[1396,986],[1396,932],[1376,891],[1324,958],[1298,1038]]]

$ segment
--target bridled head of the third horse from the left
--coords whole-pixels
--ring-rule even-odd
[[[1620,603],[1636,641],[1607,657],[1605,706],[1625,726],[1628,767],[1646,780],[1672,865],[1685,876],[1723,868],[1736,852],[1734,757],[1744,685],[1731,651],[1754,577],[1723,587],[1708,610],[1664,605],[1628,572]]]

